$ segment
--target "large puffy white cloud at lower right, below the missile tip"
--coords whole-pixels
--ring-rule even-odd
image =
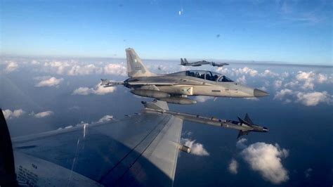
[[[282,165],[282,158],[287,157],[289,151],[275,143],[253,143],[241,152],[244,160],[251,169],[263,176],[263,179],[274,184],[285,182],[289,179],[288,171]]]

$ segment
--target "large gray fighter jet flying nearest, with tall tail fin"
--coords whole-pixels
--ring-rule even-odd
[[[187,70],[166,75],[150,72],[133,49],[126,49],[127,74],[124,82],[102,79],[103,86],[124,85],[137,96],[175,104],[194,104],[188,96],[251,98],[268,96],[266,91],[233,82],[225,75],[206,70]]]

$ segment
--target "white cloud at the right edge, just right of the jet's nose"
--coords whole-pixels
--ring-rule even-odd
[[[332,96],[330,96],[327,91],[311,92],[311,93],[296,93],[297,102],[303,103],[306,106],[315,106],[319,103],[332,103]]]

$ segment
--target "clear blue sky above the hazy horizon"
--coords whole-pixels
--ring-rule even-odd
[[[331,1],[1,1],[11,56],[332,65]]]

